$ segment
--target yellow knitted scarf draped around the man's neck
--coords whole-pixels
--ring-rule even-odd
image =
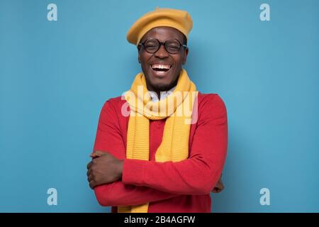
[[[124,94],[130,105],[126,158],[149,160],[150,119],[163,118],[167,120],[162,143],[155,154],[156,162],[178,162],[189,157],[191,113],[197,94],[196,85],[182,69],[174,92],[165,99],[152,102],[144,74],[137,74],[130,91]],[[148,205],[118,206],[118,213],[147,213]]]

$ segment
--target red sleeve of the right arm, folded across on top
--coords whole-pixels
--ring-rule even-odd
[[[228,120],[218,94],[209,94],[204,99],[198,104],[198,124],[189,158],[179,162],[124,160],[124,184],[176,194],[210,194],[225,163]]]

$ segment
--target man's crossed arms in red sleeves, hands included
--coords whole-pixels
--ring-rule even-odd
[[[228,143],[227,113],[218,95],[198,115],[190,157],[181,162],[128,160],[116,110],[106,101],[99,118],[88,181],[102,206],[125,206],[181,194],[220,192]],[[165,177],[162,177],[165,176]]]

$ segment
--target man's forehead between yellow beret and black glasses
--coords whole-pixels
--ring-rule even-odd
[[[176,28],[156,27],[152,28],[150,31],[147,31],[147,33],[143,35],[141,41],[146,40],[147,38],[157,38],[159,41],[164,41],[173,38],[182,42],[183,33],[178,31]]]

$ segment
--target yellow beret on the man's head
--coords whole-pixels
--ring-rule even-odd
[[[155,11],[146,13],[138,21],[135,21],[126,38],[129,43],[138,45],[147,31],[159,26],[176,28],[188,38],[191,28],[193,28],[193,21],[191,20],[191,15],[186,11],[157,8]]]

